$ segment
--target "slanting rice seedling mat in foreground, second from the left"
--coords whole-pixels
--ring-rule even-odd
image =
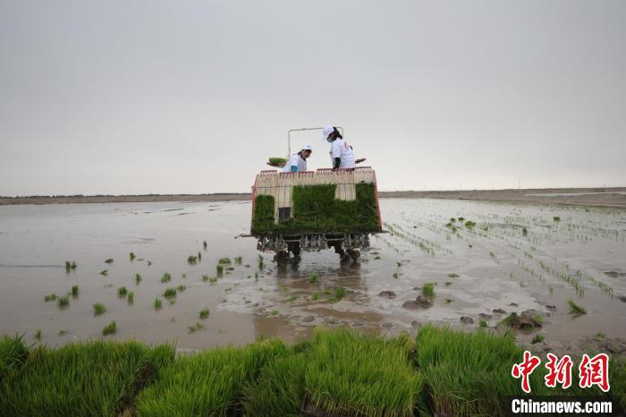
[[[178,358],[143,389],[135,402],[138,417],[155,415],[230,415],[244,387],[258,370],[287,348],[266,340],[246,347],[216,348]]]

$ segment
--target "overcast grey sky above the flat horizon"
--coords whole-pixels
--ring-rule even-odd
[[[381,190],[624,186],[625,74],[621,0],[0,0],[0,195],[250,191],[327,123]]]

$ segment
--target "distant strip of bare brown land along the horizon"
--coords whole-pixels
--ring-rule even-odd
[[[544,195],[537,195],[544,194]],[[556,195],[564,194],[564,195]],[[379,191],[386,199],[446,199],[518,201],[579,206],[614,207],[626,209],[626,187],[612,188],[543,188],[523,190],[467,191]],[[250,192],[216,194],[148,194],[94,196],[29,196],[0,197],[0,206],[20,204],[77,204],[157,201],[242,201],[250,200]]]

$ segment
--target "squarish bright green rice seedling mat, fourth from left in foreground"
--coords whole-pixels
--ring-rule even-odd
[[[306,403],[324,415],[412,416],[423,382],[409,361],[411,346],[405,336],[316,329],[304,372]]]

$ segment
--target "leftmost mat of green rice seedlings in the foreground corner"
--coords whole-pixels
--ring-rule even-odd
[[[2,344],[0,344],[2,345]],[[33,349],[0,381],[0,415],[122,415],[139,389],[173,362],[171,345],[94,341]]]

